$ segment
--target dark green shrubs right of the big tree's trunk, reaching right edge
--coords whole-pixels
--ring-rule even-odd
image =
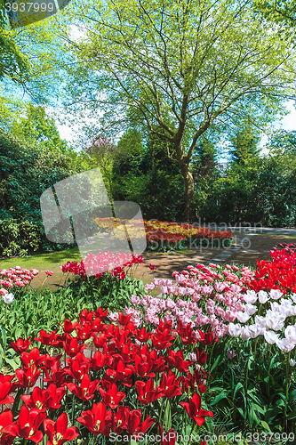
[[[212,182],[200,216],[211,222],[294,226],[296,157],[276,153],[232,163]]]

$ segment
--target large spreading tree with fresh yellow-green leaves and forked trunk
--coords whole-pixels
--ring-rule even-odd
[[[74,10],[87,39],[65,31],[79,62],[68,67],[72,103],[91,104],[94,116],[104,109],[106,130],[123,127],[129,109],[148,132],[163,137],[161,126],[193,221],[190,163],[200,137],[245,116],[272,121],[295,93],[292,49],[252,15],[249,0],[93,0]]]

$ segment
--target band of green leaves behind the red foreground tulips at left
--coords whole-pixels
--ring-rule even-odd
[[[4,305],[7,311],[0,312],[0,327],[2,325],[6,330],[7,344],[19,337],[34,339],[41,329],[62,332],[58,323],[63,324],[65,319],[78,320],[83,309],[96,311],[101,306],[110,311],[123,311],[132,294],[145,294],[142,281],[130,277],[119,280],[111,274],[100,279],[74,279],[68,287],[55,292],[47,288],[38,292],[20,288],[15,292],[14,301]],[[40,346],[40,343],[34,344]]]

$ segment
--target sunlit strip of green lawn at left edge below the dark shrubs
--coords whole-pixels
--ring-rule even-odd
[[[60,250],[59,252],[31,255],[25,258],[9,258],[0,260],[1,269],[14,268],[20,266],[24,269],[37,269],[38,271],[46,271],[52,267],[61,266],[68,261],[80,261],[81,255],[78,247],[68,250]]]

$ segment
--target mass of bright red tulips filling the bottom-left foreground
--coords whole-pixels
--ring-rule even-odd
[[[202,401],[204,364],[217,339],[209,333],[196,340],[189,327],[173,329],[172,321],[151,332],[136,328],[131,315],[119,312],[113,323],[107,316],[101,308],[84,310],[76,323],[64,321],[61,335],[41,331],[40,347],[29,352],[29,338],[12,343],[22,366],[0,375],[0,404],[13,404],[0,414],[1,443],[40,443],[44,436],[50,445],[78,437],[150,443],[154,435],[174,445],[176,433],[201,443],[213,417]],[[90,338],[96,351],[88,357]],[[60,353],[52,355],[53,348]]]

